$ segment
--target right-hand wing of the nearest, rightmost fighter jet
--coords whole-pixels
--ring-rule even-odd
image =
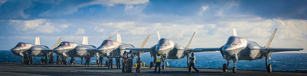
[[[261,50],[266,50],[268,52],[282,52],[282,51],[299,51],[299,50],[304,50],[302,48],[265,48]]]

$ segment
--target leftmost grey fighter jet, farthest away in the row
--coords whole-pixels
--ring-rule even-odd
[[[53,47],[50,49],[47,46],[40,45],[39,37],[36,37],[34,45],[30,43],[19,42],[14,48],[11,49],[11,51],[14,55],[19,56],[19,57],[23,57],[25,54],[25,51],[28,51],[28,53],[32,52],[34,57],[43,57],[46,55],[46,53],[49,54],[53,52],[52,49],[58,46],[62,39],[63,38],[59,38],[59,40],[57,40],[56,43],[53,45]]]

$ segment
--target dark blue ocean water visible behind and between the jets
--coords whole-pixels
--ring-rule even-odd
[[[227,63],[227,60],[223,59],[220,52],[199,52],[194,54],[196,56],[195,67],[222,68],[223,64]],[[15,62],[15,61],[20,62],[21,61],[20,58],[21,57],[13,55],[13,53],[9,50],[0,50],[0,62]],[[41,59],[40,57],[35,57],[35,58],[37,60]],[[70,57],[68,58],[68,60],[70,60]],[[80,58],[77,58],[77,60],[78,62],[81,62]],[[91,60],[96,60],[96,57],[92,57]],[[153,61],[153,58],[150,58],[149,53],[143,53],[141,60],[146,64],[150,64],[150,61]],[[34,59],[33,62],[36,63]],[[170,67],[186,67],[187,65],[186,57],[177,60],[167,59],[166,62],[168,62]],[[272,65],[273,71],[295,71],[296,69],[306,70],[307,54],[272,53],[271,60],[268,60],[268,63]],[[266,70],[264,58],[252,61],[239,60],[237,61],[236,66],[237,69]],[[229,67],[233,67],[233,61],[230,62]]]

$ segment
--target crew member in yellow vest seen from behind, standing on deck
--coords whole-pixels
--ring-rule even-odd
[[[161,74],[161,61],[164,63],[163,57],[161,56],[161,52],[159,51],[156,55],[156,58],[154,58],[154,61],[156,62],[154,73],[157,71],[157,67],[159,67],[159,73]]]

